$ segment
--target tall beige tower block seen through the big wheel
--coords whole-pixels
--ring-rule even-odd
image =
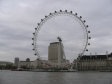
[[[64,68],[70,65],[69,60],[66,60],[64,46],[60,37],[59,42],[50,43],[48,47],[48,61],[53,67]]]

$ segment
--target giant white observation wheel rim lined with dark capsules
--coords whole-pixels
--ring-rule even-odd
[[[90,30],[88,30],[88,25],[85,24],[85,20],[82,19],[82,16],[78,16],[77,13],[73,13],[72,11],[67,11],[67,10],[60,10],[60,11],[54,11],[53,13],[49,13],[49,15],[45,16],[45,18],[41,19],[41,21],[39,23],[37,23],[37,27],[35,28],[35,32],[33,33],[33,51],[35,52],[34,55],[36,55],[38,58],[40,58],[40,54],[39,54],[39,49],[38,49],[38,36],[39,36],[39,31],[41,29],[41,27],[50,19],[52,19],[53,17],[56,16],[71,16],[73,19],[75,19],[79,25],[81,26],[81,28],[83,29],[83,33],[84,33],[84,44],[83,44],[83,49],[82,51],[79,53],[80,56],[83,56],[84,53],[86,51],[88,51],[87,46],[90,45],[89,43],[89,39],[91,39],[91,37],[89,36],[90,34]]]

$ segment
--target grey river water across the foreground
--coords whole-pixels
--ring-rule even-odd
[[[0,71],[0,84],[112,84],[112,72]]]

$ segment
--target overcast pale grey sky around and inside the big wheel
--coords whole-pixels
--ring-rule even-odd
[[[0,61],[13,62],[15,57],[19,57],[20,60],[26,58],[35,60],[37,57],[34,56],[31,45],[34,28],[45,15],[60,9],[77,12],[86,20],[92,37],[91,45],[88,46],[88,53],[105,54],[106,51],[112,52],[111,0],[0,0]],[[47,59],[49,43],[56,41],[58,35],[62,37],[63,42],[65,41],[66,52],[67,49],[70,50],[69,48],[71,48],[71,52],[76,51],[74,36],[79,37],[80,35],[76,31],[81,34],[82,30],[80,28],[80,30],[77,28],[72,30],[72,27],[76,26],[73,24],[73,20],[73,18],[66,16],[55,17],[43,25],[39,32],[40,44],[38,44],[43,58]],[[55,32],[59,30],[65,33]],[[54,37],[50,37],[52,34]],[[77,56],[69,57],[67,55],[67,58],[75,59]]]

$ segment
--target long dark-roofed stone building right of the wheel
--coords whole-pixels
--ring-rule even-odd
[[[106,55],[84,55],[74,60],[78,71],[112,71],[112,53]]]

